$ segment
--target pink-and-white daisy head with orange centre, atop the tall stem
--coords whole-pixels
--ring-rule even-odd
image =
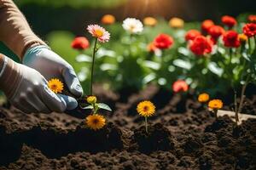
[[[110,34],[102,26],[90,25],[87,27],[87,31],[90,32],[92,37],[96,37],[99,42],[108,42]]]

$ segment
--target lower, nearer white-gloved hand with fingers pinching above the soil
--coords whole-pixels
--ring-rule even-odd
[[[6,56],[2,56],[3,58],[5,62],[0,71],[0,89],[10,103],[21,111],[63,112],[78,105],[76,99],[53,93],[48,88],[48,82],[38,71],[15,63]]]

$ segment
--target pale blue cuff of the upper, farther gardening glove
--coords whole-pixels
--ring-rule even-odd
[[[35,47],[32,47],[32,48],[28,48],[26,50],[26,53],[24,54],[23,56],[23,59],[22,59],[22,63],[23,64],[28,64],[30,63],[30,61],[32,60],[33,57],[37,56],[37,54],[42,50],[42,49],[50,49],[49,46],[46,46],[46,45],[38,45],[38,46],[35,46]]]

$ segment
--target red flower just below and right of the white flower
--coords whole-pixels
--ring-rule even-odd
[[[154,46],[160,49],[171,48],[173,44],[173,38],[167,34],[160,34],[154,38]]]

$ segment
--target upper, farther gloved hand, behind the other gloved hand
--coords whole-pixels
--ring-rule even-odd
[[[38,45],[28,48],[22,60],[24,65],[39,71],[48,81],[51,78],[58,78],[66,82],[69,91],[75,97],[79,98],[83,95],[83,88],[73,67],[51,51],[49,47]]]

